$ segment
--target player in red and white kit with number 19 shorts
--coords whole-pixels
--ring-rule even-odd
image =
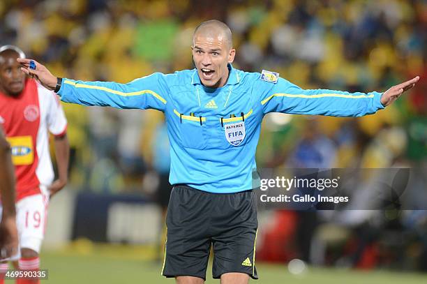
[[[57,96],[22,73],[17,58],[24,58],[18,47],[0,47],[0,119],[12,149],[17,178],[16,221],[21,250],[18,267],[36,271],[47,205],[68,179],[67,121]],[[49,132],[54,135],[59,173],[53,183]],[[39,280],[20,278],[17,283]]]

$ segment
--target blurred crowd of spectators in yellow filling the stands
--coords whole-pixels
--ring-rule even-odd
[[[193,68],[193,31],[212,18],[232,29],[234,67],[273,70],[304,89],[385,91],[420,75],[409,94],[374,116],[269,114],[257,165],[413,167],[421,193],[427,193],[427,1],[6,0],[0,16],[0,45],[18,45],[52,73],[78,80],[129,82]],[[165,176],[163,114],[64,108],[73,186],[150,193],[152,181]],[[427,226],[425,211],[414,212],[396,217],[400,225]],[[424,234],[426,250],[424,231],[417,234]]]

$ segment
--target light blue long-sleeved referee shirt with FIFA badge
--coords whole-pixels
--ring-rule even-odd
[[[63,79],[66,103],[165,113],[170,140],[170,184],[211,193],[253,188],[261,121],[269,112],[361,117],[380,110],[381,95],[325,89],[304,90],[263,70],[232,68],[225,86],[204,87],[197,70],[153,73],[128,84]]]

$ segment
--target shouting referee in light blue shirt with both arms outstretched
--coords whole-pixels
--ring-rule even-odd
[[[203,22],[191,45],[195,68],[153,73],[129,82],[82,82],[54,77],[45,66],[18,59],[61,100],[81,105],[153,108],[165,112],[170,140],[167,241],[162,274],[177,283],[204,283],[213,246],[213,278],[223,284],[257,278],[255,239],[259,186],[255,149],[269,112],[360,117],[381,110],[419,80],[368,94],[304,90],[262,70],[232,67],[232,33],[217,20]]]

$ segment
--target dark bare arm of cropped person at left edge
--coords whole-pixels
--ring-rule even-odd
[[[15,218],[15,177],[10,146],[0,123],[0,260],[17,253],[18,239]],[[0,264],[0,273],[3,270]],[[0,283],[1,283],[0,276]]]

